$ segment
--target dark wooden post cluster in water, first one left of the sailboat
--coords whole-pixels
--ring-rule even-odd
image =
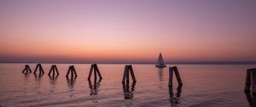
[[[134,75],[134,72],[133,72],[133,69],[132,69],[132,66],[131,65],[125,65],[125,71],[124,71],[124,76],[123,76],[122,83],[125,83],[125,80],[126,80],[126,82],[129,83],[129,72],[131,73],[132,81],[137,82],[136,78],[135,78],[135,75]]]

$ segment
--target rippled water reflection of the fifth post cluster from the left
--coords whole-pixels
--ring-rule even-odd
[[[99,79],[97,82],[97,79],[94,80],[93,85],[91,84],[91,81],[88,80],[89,88],[90,88],[90,95],[97,95],[99,91],[99,87],[101,86],[102,79]]]

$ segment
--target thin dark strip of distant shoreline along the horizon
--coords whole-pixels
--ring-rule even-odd
[[[0,62],[0,64],[93,64],[83,62]],[[149,62],[97,63],[103,65],[154,65]],[[256,61],[202,61],[202,62],[166,62],[166,65],[256,65]]]

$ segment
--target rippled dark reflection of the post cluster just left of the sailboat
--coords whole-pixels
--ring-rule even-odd
[[[124,91],[124,99],[133,99],[134,97],[134,90],[135,90],[135,86],[136,86],[136,82],[132,82],[131,84],[131,89],[130,89],[130,84],[129,82],[122,83],[123,84],[123,91]]]

